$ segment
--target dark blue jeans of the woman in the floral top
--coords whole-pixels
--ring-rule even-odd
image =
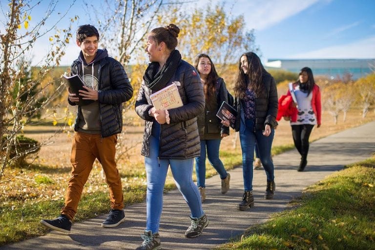
[[[242,126],[245,126],[244,128]],[[242,149],[242,173],[244,177],[244,190],[252,191],[252,161],[254,159],[254,144],[258,144],[258,153],[263,168],[266,171],[267,181],[273,181],[273,162],[271,160],[271,147],[274,136],[274,129],[271,129],[269,136],[264,136],[263,131],[254,132],[254,121],[245,120],[241,122],[240,142]]]

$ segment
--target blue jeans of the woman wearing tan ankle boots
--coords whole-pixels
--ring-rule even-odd
[[[227,171],[219,158],[220,142],[221,139],[201,140],[201,155],[195,157],[198,187],[206,188],[206,149],[209,164],[220,174],[221,179],[227,178]]]

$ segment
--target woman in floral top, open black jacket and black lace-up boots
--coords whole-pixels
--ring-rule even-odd
[[[265,199],[272,199],[275,191],[271,146],[278,109],[275,80],[253,52],[243,54],[234,86],[234,106],[237,109],[235,131],[240,133],[244,194],[237,209],[245,211],[254,205],[252,195],[253,158],[255,141],[260,161],[267,175]],[[228,125],[228,121],[225,122]]]

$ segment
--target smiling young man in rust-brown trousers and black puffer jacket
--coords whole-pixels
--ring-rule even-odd
[[[102,164],[105,181],[109,187],[111,210],[102,227],[116,227],[125,220],[122,183],[115,162],[117,134],[123,127],[122,103],[133,96],[124,67],[107,51],[98,49],[99,33],[92,25],[82,25],[77,30],[80,55],[71,65],[71,75],[84,80],[84,90],[79,96],[91,100],[79,105],[74,124],[75,135],[70,161],[71,177],[65,194],[65,206],[58,218],[41,220],[47,228],[69,233],[77,213],[83,186],[92,170],[95,159]],[[77,105],[79,96],[71,93],[68,102]]]

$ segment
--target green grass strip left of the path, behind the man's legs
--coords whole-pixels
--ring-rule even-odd
[[[127,205],[142,202],[145,199],[146,186],[124,189],[124,202]],[[0,246],[41,236],[49,231],[39,221],[52,219],[59,215],[63,206],[61,200],[19,201],[0,207]],[[96,192],[82,196],[79,212],[75,221],[93,218],[108,212],[108,192]]]

